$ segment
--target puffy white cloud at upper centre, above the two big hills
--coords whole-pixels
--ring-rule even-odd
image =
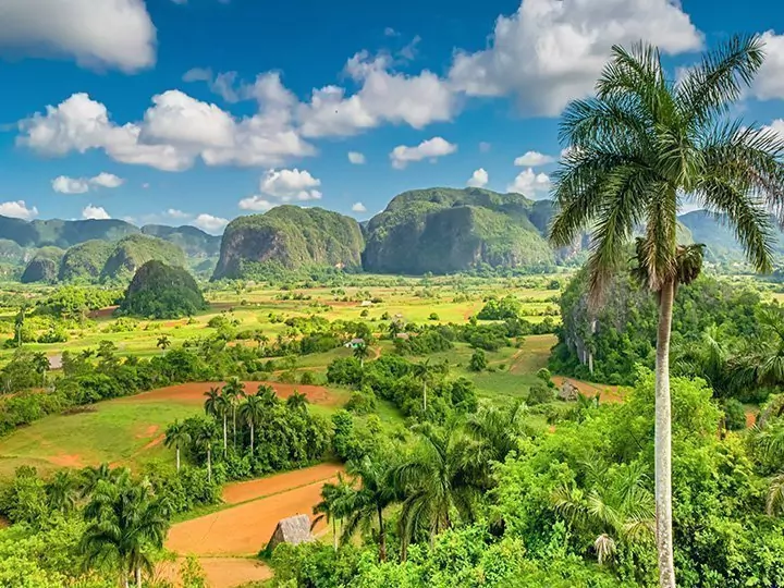
[[[346,73],[362,87],[351,96],[339,86],[314,89],[310,100],[296,109],[303,135],[347,136],[383,123],[422,128],[456,113],[456,96],[444,79],[427,70],[406,75],[391,66],[389,56],[362,51],[351,58]]]

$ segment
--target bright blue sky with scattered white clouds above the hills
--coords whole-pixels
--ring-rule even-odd
[[[544,198],[613,44],[677,78],[736,33],[768,58],[734,114],[784,133],[779,0],[0,0],[0,215],[217,234],[432,186]]]

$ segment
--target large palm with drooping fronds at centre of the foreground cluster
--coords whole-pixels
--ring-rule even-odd
[[[450,513],[473,519],[474,502],[482,476],[476,449],[454,426],[418,429],[420,442],[414,455],[394,470],[396,488],[405,497],[400,515],[401,553],[420,531],[431,540],[452,526]]]

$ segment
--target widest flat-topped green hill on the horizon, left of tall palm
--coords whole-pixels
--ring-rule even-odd
[[[480,188],[416,189],[395,196],[367,224],[367,271],[450,273],[477,268],[550,266],[543,233],[549,201]]]

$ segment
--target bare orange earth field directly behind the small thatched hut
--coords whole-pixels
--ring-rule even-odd
[[[282,518],[306,514],[313,519],[313,507],[321,501],[322,486],[323,481],[318,481],[179,523],[169,530],[166,548],[199,556],[256,555]],[[324,525],[319,523],[315,532]]]

